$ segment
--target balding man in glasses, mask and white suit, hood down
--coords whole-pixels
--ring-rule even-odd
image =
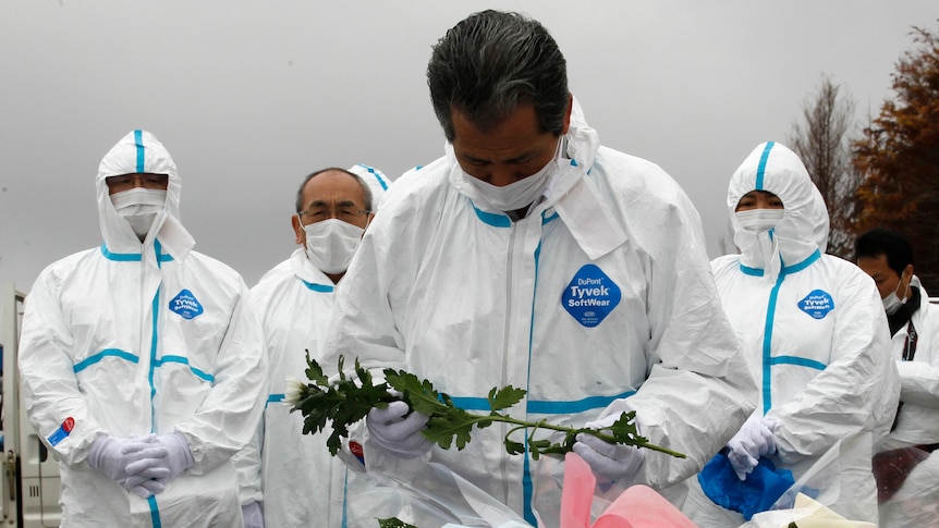
[[[353,475],[330,455],[326,434],[302,434],[303,416],[284,402],[285,379],[306,380],[307,353],[320,359],[336,290],[389,183],[363,164],[306,176],[291,217],[300,247],[248,293],[268,376],[260,427],[235,461],[246,528],[343,526]]]

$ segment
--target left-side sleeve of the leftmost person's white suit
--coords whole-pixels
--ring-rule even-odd
[[[65,464],[76,464],[87,457],[99,432],[110,431],[101,429],[78,390],[71,354],[75,344],[59,304],[61,279],[53,267],[40,273],[26,297],[20,335],[20,380],[26,414],[47,445],[49,437],[72,419],[74,427],[69,435],[50,447]]]

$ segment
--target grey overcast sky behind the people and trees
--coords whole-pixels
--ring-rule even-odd
[[[28,291],[100,244],[98,163],[143,127],[179,165],[196,249],[253,285],[294,247],[305,174],[362,162],[395,179],[442,154],[430,47],[487,8],[548,27],[600,140],[685,188],[711,257],[744,157],[788,143],[822,75],[876,114],[911,27],[939,19],[936,0],[3,0],[0,282]]]

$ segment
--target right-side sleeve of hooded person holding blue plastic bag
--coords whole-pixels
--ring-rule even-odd
[[[779,422],[776,445],[786,464],[817,456],[854,434],[871,432],[877,439],[893,422],[900,381],[883,306],[870,278],[849,266],[843,262],[832,272],[845,279],[830,363],[795,398],[766,415]]]

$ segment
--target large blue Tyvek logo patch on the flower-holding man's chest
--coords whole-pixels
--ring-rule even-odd
[[[561,305],[577,322],[594,328],[620,304],[620,286],[595,265],[584,265],[564,288]]]

